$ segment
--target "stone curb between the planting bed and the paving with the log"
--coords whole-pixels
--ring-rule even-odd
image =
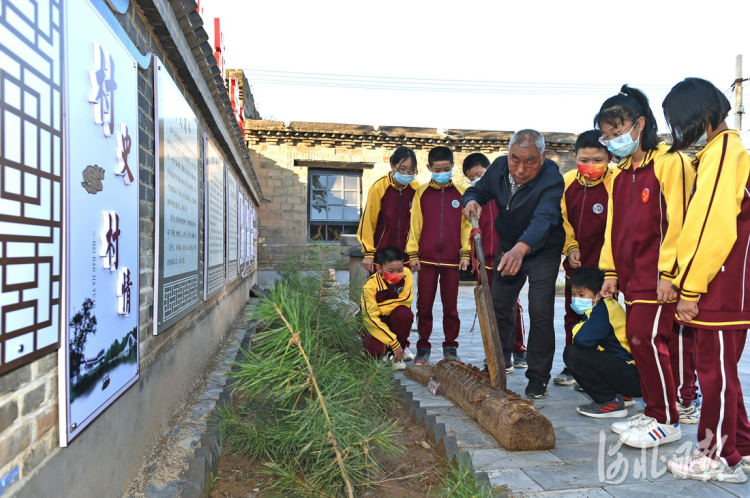
[[[471,462],[471,455],[468,451],[460,451],[455,436],[448,436],[445,431],[445,424],[438,422],[435,415],[427,415],[427,410],[419,406],[419,401],[414,399],[414,395],[409,392],[405,385],[401,384],[398,379],[393,379],[393,385],[396,386],[398,395],[404,408],[407,409],[409,418],[415,424],[424,427],[427,439],[435,445],[438,455],[445,458],[451,465],[464,465],[471,470],[480,487],[486,488],[492,492],[490,477],[486,472],[477,472],[474,464]]]

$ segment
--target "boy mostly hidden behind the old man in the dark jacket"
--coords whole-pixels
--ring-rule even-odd
[[[487,168],[490,167],[490,160],[481,152],[469,154],[464,159],[463,172],[466,179],[469,180],[473,187],[479,181]],[[484,249],[485,275],[487,275],[487,284],[492,288],[492,275],[494,274],[492,263],[495,261],[495,255],[499,246],[499,239],[495,231],[495,219],[497,218],[497,204],[489,201],[482,206],[482,214],[479,218],[479,229],[482,231],[482,248]],[[523,307],[519,300],[516,304],[516,340],[513,347],[513,365],[506,368],[510,373],[515,368],[527,368],[526,363],[526,326],[523,322]]]

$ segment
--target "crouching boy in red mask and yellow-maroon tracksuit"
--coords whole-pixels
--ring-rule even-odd
[[[378,254],[376,272],[362,289],[362,315],[368,336],[362,341],[370,355],[388,359],[397,370],[406,368],[404,352],[414,314],[412,274],[404,267],[404,253],[397,247],[384,247]]]

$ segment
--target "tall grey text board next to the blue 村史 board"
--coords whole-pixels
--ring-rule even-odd
[[[199,302],[200,178],[198,121],[172,77],[155,59],[156,258],[154,334]]]

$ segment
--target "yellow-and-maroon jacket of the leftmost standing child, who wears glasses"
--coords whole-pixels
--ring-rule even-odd
[[[367,204],[357,230],[365,258],[374,258],[385,247],[406,250],[411,204],[417,181],[402,186],[389,173],[378,178],[367,194]]]

